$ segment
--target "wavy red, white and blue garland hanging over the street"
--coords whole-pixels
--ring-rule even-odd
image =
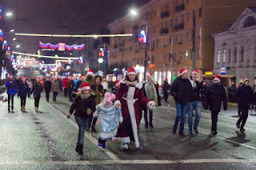
[[[58,43],[56,45],[52,45],[50,43],[42,43],[42,42],[39,42],[39,45],[41,46],[42,49],[47,49],[47,48],[50,48],[50,49],[58,49],[59,51],[65,51],[65,49],[71,51],[73,49],[78,49],[78,50],[81,50],[85,47],[85,44],[82,44],[82,45],[66,45],[65,43]]]

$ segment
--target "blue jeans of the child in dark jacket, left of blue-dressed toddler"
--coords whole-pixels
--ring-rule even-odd
[[[78,146],[83,145],[83,139],[85,136],[85,130],[88,126],[90,118],[82,118],[82,117],[75,117],[75,121],[77,121],[79,132],[78,132]]]

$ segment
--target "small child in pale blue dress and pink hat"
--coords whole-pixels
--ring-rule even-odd
[[[100,130],[98,132],[98,146],[106,148],[106,140],[116,136],[119,122],[122,124],[121,107],[115,108],[115,95],[105,93],[104,101],[96,106],[94,119],[98,117]]]

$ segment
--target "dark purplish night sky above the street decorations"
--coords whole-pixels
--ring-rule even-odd
[[[21,45],[16,51],[37,53],[38,42],[71,45],[72,38],[28,38],[8,33],[33,34],[95,34],[107,24],[128,14],[131,6],[142,6],[150,0],[0,0],[3,12],[12,11],[12,18],[4,18],[7,41]],[[17,6],[17,20],[15,9]],[[12,39],[17,38],[17,42]]]

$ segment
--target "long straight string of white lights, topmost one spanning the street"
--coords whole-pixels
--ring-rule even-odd
[[[133,34],[102,34],[102,35],[61,35],[61,34],[23,34],[15,33],[20,36],[31,37],[55,37],[55,38],[114,38],[114,37],[132,37]]]

